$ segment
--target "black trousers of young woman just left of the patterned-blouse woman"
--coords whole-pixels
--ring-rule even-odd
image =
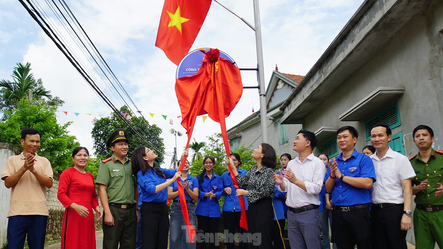
[[[247,214],[248,211],[246,211]],[[225,232],[225,237],[226,237],[226,249],[234,249],[235,248],[235,244],[234,241],[232,240],[228,240],[228,238],[234,238],[233,234],[235,234],[235,227],[237,227],[237,232],[240,234],[239,235],[239,248],[240,249],[246,249],[248,248],[248,237],[246,235],[246,233],[248,232],[247,230],[243,229],[240,227],[240,217],[241,217],[241,212],[229,212],[229,211],[223,211],[223,224],[225,225],[225,230],[228,231],[228,234],[226,234]],[[232,236],[231,236],[232,234]],[[245,236],[241,236],[245,234]]]

